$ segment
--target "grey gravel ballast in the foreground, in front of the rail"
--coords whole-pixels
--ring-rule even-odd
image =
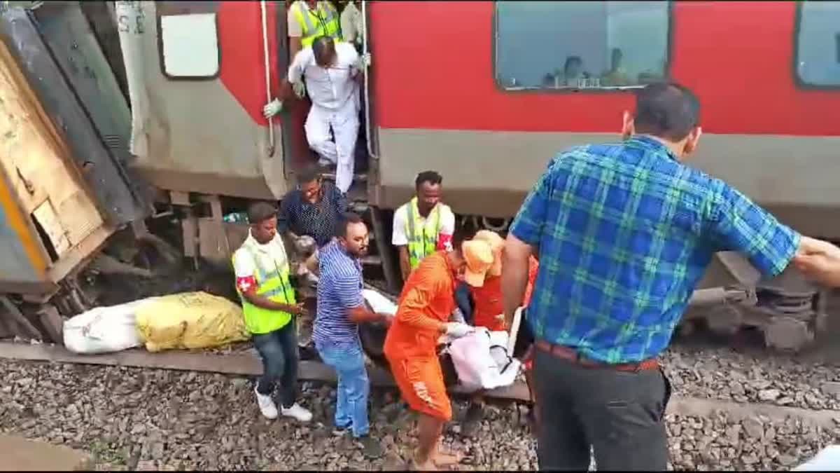
[[[87,450],[100,470],[401,469],[412,446],[411,414],[384,391],[372,396],[371,427],[390,453],[366,460],[330,432],[328,386],[303,385],[315,419],[301,425],[263,419],[250,381],[226,375],[8,360],[0,375],[0,431]],[[455,403],[456,418],[464,410]],[[840,430],[790,418],[734,421],[716,412],[667,421],[675,469],[789,470],[840,438]],[[537,467],[524,409],[490,406],[475,438],[458,433],[450,424],[444,442],[468,454],[462,470]]]

